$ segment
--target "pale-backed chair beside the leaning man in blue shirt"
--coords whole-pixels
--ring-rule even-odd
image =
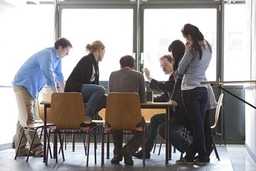
[[[19,123],[21,124],[21,126],[23,127],[23,132],[22,132],[22,137],[19,140],[19,146],[18,146],[18,150],[15,153],[15,158],[17,158],[17,155],[19,153],[19,148],[23,139],[23,136],[25,135],[25,131],[27,132],[34,132],[33,133],[33,138],[32,138],[32,142],[30,144],[30,148],[29,148],[29,153],[31,153],[32,147],[33,147],[33,143],[34,143],[34,139],[35,136],[39,136],[38,135],[38,129],[42,129],[41,132],[43,131],[43,124],[42,123],[29,123],[28,124],[28,113],[27,113],[27,108],[25,106],[25,100],[22,96],[21,92],[15,92],[15,99],[17,102],[17,106],[18,106],[18,117],[19,117]],[[53,126],[53,124],[47,124],[47,127]],[[42,135],[42,133],[40,134]],[[47,137],[47,135],[46,135]],[[28,162],[29,160],[29,153],[27,155],[27,159],[25,160],[26,162]]]

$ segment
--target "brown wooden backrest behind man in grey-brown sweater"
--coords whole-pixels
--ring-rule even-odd
[[[135,130],[141,121],[140,96],[136,92],[110,92],[105,120],[113,130]]]

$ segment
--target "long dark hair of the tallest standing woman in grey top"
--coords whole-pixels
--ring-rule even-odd
[[[184,25],[184,28],[181,29],[182,34],[187,37],[188,35],[191,36],[191,39],[193,41],[191,45],[191,53],[192,55],[196,55],[197,52],[200,55],[200,59],[202,59],[202,49],[200,46],[200,42],[206,42],[207,46],[211,50],[211,45],[204,39],[204,35],[200,32],[200,30],[195,25],[186,24]],[[204,49],[206,49],[204,45]]]

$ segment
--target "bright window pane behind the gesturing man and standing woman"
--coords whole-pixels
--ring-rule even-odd
[[[144,10],[144,67],[150,69],[154,79],[168,79],[169,76],[164,75],[158,67],[159,59],[162,55],[169,54],[168,47],[173,40],[180,39],[186,42],[180,30],[184,24],[190,23],[197,25],[211,44],[213,56],[207,69],[207,79],[216,80],[216,14],[215,8]]]

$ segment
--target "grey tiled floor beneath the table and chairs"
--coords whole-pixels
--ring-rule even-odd
[[[110,163],[110,159],[105,159],[105,165],[100,166],[100,145],[97,149],[97,163],[94,164],[93,146],[90,149],[89,167],[86,167],[86,157],[84,155],[83,146],[76,144],[76,152],[72,152],[72,146],[67,146],[65,151],[66,161],[62,161],[59,155],[59,162],[55,163],[55,159],[49,159],[49,166],[42,163],[42,158],[29,158],[29,162],[25,162],[25,157],[14,159],[15,150],[6,149],[0,151],[0,170],[27,171],[27,170],[217,170],[217,171],[252,171],[256,170],[256,164],[248,155],[248,152],[241,145],[217,146],[217,151],[221,157],[221,161],[216,159],[214,153],[211,155],[211,163],[207,166],[183,166],[177,165],[175,160],[180,157],[180,153],[172,153],[172,160],[168,165],[164,164],[165,154],[164,146],[161,149],[160,156],[157,153],[151,154],[151,159],[146,160],[146,167],[143,168],[141,159],[134,159],[134,166],[125,166],[123,161],[119,165]],[[113,146],[110,146],[110,157],[112,157]],[[157,148],[158,150],[158,148]],[[106,156],[106,155],[105,155]]]

